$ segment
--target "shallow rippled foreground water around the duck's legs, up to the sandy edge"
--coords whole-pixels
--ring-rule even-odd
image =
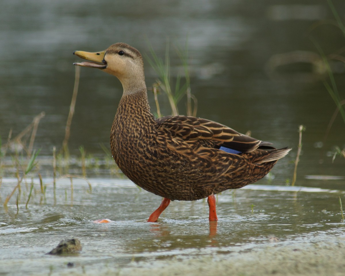
[[[0,213],[2,275],[68,272],[67,262],[81,273],[107,266],[121,271],[139,263],[159,266],[162,260],[217,259],[259,249],[272,235],[282,245],[344,237],[338,197],[345,201],[345,192],[340,190],[272,186],[263,179],[262,184],[217,195],[218,223],[209,223],[206,200],[173,201],[158,223],[147,223],[159,197],[129,180],[89,181],[91,193],[81,179],[73,179],[73,190],[69,179],[59,180],[55,191],[49,184],[45,195],[35,190],[28,207],[20,204],[18,213],[11,199],[8,210]],[[14,183],[16,179],[3,179],[2,194]],[[27,195],[22,185],[22,196]],[[97,218],[112,222],[92,223]],[[81,241],[82,253],[45,255],[71,237]]]

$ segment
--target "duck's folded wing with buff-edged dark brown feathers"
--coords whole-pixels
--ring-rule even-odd
[[[191,117],[167,116],[156,120],[160,137],[182,139],[191,147],[221,149],[229,153],[252,152],[271,143],[240,134],[217,122]]]

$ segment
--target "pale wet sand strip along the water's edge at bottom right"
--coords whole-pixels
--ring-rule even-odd
[[[99,266],[97,271],[73,268],[68,272],[51,275],[140,275],[140,276],[290,276],[327,275],[340,276],[345,273],[345,237],[329,237],[315,242],[269,243],[249,252],[216,254],[198,259],[155,261],[154,264],[139,262],[135,267],[112,268]]]

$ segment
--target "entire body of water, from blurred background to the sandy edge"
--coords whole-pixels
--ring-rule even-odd
[[[341,15],[344,1],[333,2]],[[345,159],[337,157],[332,162],[332,157],[335,146],[344,147],[345,127],[337,116],[325,138],[335,110],[322,82],[329,82],[328,76],[313,71],[310,62],[272,62],[280,54],[292,57],[294,51],[320,58],[311,36],[326,55],[342,53],[343,34],[330,24],[334,16],[327,1],[299,1],[294,5],[284,0],[279,4],[253,0],[168,0],[162,4],[153,0],[129,5],[100,0],[95,7],[94,1],[88,0],[16,0],[2,4],[0,18],[2,144],[10,129],[12,138],[16,137],[34,116],[45,112],[33,148],[41,148],[39,172],[47,185],[42,195],[35,172],[28,207],[31,180],[22,184],[21,193],[13,195],[8,209],[3,208],[17,184],[11,178],[16,174],[10,156],[14,151],[7,152],[5,168],[0,170],[0,275],[98,275],[100,266],[120,272],[159,267],[161,260],[226,259],[235,253],[260,252],[271,235],[279,239],[278,248],[300,248],[328,239],[334,245],[339,239],[344,243],[338,197],[345,206]],[[114,161],[103,159],[100,146],[109,148],[110,126],[122,87],[115,77],[90,68],[81,70],[68,173],[82,174],[78,148],[83,145],[91,163],[87,176],[92,192],[80,179],[73,179],[73,189],[69,179],[59,180],[53,189],[52,149],[56,146],[59,152],[61,148],[73,89],[72,63],[78,60],[72,52],[103,50],[122,41],[144,55],[150,55],[152,45],[164,58],[168,40],[173,81],[182,71],[175,46],[183,48],[188,41],[191,91],[198,99],[198,116],[239,132],[250,130],[253,137],[273,142],[276,147],[293,148],[257,184],[218,195],[217,224],[208,222],[206,200],[172,202],[158,223],[146,223],[160,198],[118,179],[121,175]],[[144,62],[150,88],[157,74],[146,58]],[[343,63],[329,62],[344,97]],[[155,112],[150,92],[149,100]],[[170,114],[163,95],[159,102],[162,113]],[[184,102],[179,110],[185,114]],[[289,187],[286,183],[291,183],[293,175],[300,124],[306,131],[298,187]],[[58,176],[64,173],[64,168],[58,169]],[[91,223],[98,218],[113,222]],[[81,254],[44,255],[70,237],[80,239]],[[75,268],[67,268],[68,262]]]

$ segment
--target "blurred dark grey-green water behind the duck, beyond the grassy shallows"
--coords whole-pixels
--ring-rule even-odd
[[[315,180],[314,175],[344,176],[345,124],[324,82],[331,83],[322,54],[329,58],[334,83],[344,98],[344,34],[327,1],[3,1],[0,11],[0,135],[18,135],[41,119],[33,148],[51,156],[61,149],[72,96],[74,50],[98,51],[126,42],[143,55],[150,47],[164,58],[170,45],[172,80],[183,71],[176,48],[188,48],[191,92],[197,116],[239,132],[292,147],[274,171],[278,183],[291,178],[304,125],[299,184],[341,188],[343,180]],[[333,1],[344,18],[343,1]],[[322,49],[322,53],[319,49]],[[333,55],[333,56],[332,56]],[[344,58],[343,58],[344,59]],[[148,88],[156,72],[145,62]],[[100,70],[81,69],[79,94],[69,149],[104,154],[119,99],[120,82]],[[156,111],[149,92],[152,111]],[[168,101],[159,96],[163,115]],[[185,114],[185,102],[180,104]],[[49,173],[48,173],[49,174]],[[307,176],[307,179],[305,179]],[[310,177],[311,176],[311,177]],[[309,180],[308,180],[309,179]],[[312,179],[312,180],[310,180]]]

